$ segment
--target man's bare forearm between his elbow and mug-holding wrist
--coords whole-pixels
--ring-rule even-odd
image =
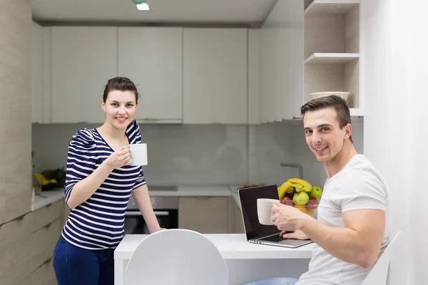
[[[354,229],[330,227],[310,217],[302,222],[300,230],[337,259],[364,268],[370,267],[374,262],[370,244],[363,242]]]

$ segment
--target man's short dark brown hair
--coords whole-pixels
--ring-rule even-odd
[[[315,111],[325,108],[335,109],[336,118],[339,122],[340,129],[351,123],[350,108],[348,107],[346,100],[338,95],[328,95],[325,97],[312,99],[300,107],[300,113],[305,116],[307,111]],[[351,136],[350,140],[353,143]]]

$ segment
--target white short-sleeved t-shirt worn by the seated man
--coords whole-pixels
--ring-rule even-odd
[[[343,212],[353,209],[385,210],[387,219],[382,253],[389,244],[389,205],[389,187],[382,175],[364,155],[356,155],[340,172],[325,182],[317,219],[332,227],[345,227]],[[370,269],[341,261],[315,244],[309,271],[302,274],[295,285],[361,285],[369,271]]]

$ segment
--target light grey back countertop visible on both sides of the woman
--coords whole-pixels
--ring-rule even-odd
[[[151,186],[148,185],[148,192],[151,197],[160,196],[210,196],[210,197],[230,197],[232,196],[238,207],[240,207],[238,199],[238,186],[178,186],[176,191],[151,191]],[[31,203],[31,210],[35,211],[41,207],[45,207],[47,204],[58,201],[64,198],[63,188],[57,188],[54,190],[42,191],[41,195],[34,195],[34,199]]]

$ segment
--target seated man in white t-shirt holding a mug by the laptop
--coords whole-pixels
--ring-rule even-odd
[[[300,279],[274,278],[251,285],[360,285],[389,244],[389,188],[352,142],[350,110],[330,95],[300,108],[305,138],[327,180],[317,219],[277,203],[272,221],[285,238],[312,239],[309,271]],[[376,143],[376,142],[374,142]],[[285,231],[294,231],[285,234]]]

